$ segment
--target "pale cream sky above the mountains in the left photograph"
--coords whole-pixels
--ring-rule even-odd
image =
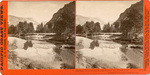
[[[8,2],[8,15],[32,18],[37,22],[49,21],[53,14],[70,1]]]

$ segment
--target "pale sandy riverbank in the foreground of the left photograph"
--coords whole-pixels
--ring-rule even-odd
[[[8,37],[8,41],[8,69],[66,68],[66,66],[64,66],[66,60],[62,59],[62,56],[65,56],[67,52],[64,53],[62,50],[60,55],[57,54],[53,50],[56,47],[53,43],[32,40],[33,47],[24,50],[23,47],[26,40]]]

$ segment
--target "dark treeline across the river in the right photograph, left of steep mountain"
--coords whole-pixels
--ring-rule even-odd
[[[100,32],[119,32],[117,31],[117,25],[111,25],[109,22],[108,24],[105,24],[102,29],[101,25],[99,22],[94,23],[93,21],[91,22],[86,22],[84,25],[77,25],[76,26],[76,33],[77,34],[93,34],[93,33],[100,33]]]

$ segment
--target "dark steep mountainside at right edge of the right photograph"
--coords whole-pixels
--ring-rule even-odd
[[[143,38],[143,1],[132,4],[121,13],[114,26],[128,38]]]

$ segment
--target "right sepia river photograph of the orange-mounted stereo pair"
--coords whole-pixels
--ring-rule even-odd
[[[76,2],[76,68],[143,68],[143,1]]]

